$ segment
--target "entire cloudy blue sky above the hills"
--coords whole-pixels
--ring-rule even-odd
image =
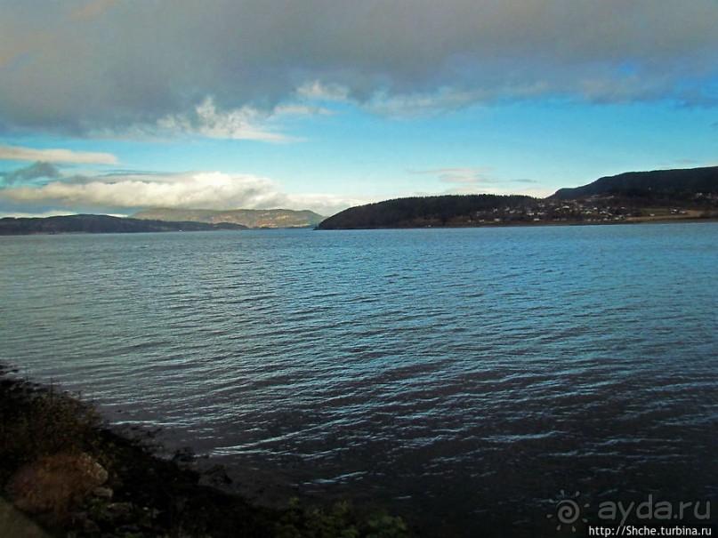
[[[0,0],[0,217],[718,165],[718,0]]]

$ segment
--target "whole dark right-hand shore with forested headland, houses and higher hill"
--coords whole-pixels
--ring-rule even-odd
[[[407,197],[351,207],[318,229],[617,223],[718,217],[718,166],[624,173],[547,198]]]

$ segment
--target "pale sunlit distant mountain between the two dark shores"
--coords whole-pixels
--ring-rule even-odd
[[[247,228],[314,228],[324,217],[313,211],[291,209],[172,209],[156,207],[134,213],[133,219],[154,219],[159,221],[192,221],[218,224],[231,222]]]

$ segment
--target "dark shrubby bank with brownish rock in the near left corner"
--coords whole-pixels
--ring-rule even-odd
[[[0,366],[0,494],[57,536],[102,538],[400,538],[413,535],[384,511],[359,517],[283,508],[204,486],[197,470],[157,456],[102,424],[93,406],[12,376]]]

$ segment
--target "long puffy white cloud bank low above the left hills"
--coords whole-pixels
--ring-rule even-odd
[[[127,214],[148,207],[281,207],[333,214],[359,202],[329,195],[290,195],[269,178],[218,172],[55,177],[42,185],[13,185],[0,190],[0,205],[52,206],[89,213]]]

